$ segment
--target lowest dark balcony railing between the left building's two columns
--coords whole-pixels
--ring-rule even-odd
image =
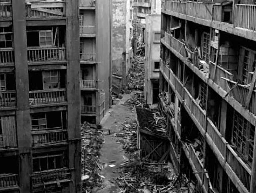
[[[56,169],[51,171],[35,172],[34,174],[30,175],[31,183],[34,185],[38,183],[41,184],[43,182],[56,181],[56,179],[71,179],[70,171],[70,169]]]

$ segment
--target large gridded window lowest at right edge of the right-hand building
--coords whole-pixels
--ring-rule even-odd
[[[238,112],[234,112],[232,143],[237,151],[252,165],[255,127]]]

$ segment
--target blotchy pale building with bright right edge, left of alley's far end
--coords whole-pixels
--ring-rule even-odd
[[[132,0],[113,0],[113,33],[112,33],[112,73],[113,91],[127,86],[128,71],[132,57]],[[121,84],[120,84],[121,83]]]

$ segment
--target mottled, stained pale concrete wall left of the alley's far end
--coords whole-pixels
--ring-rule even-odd
[[[112,72],[122,76],[122,86],[127,85],[129,70],[130,1],[113,0]]]

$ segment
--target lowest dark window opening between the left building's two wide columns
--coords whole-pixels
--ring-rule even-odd
[[[42,153],[33,157],[33,172],[60,169],[65,167],[64,152]]]

